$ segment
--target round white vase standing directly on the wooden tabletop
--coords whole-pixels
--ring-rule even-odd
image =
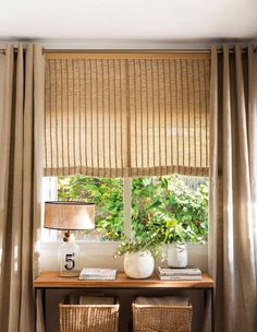
[[[151,276],[155,261],[150,251],[126,252],[124,271],[132,278],[147,278]]]

